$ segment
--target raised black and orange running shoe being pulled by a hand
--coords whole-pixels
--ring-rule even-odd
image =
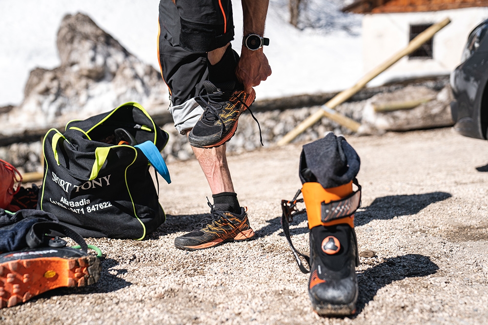
[[[236,133],[239,116],[249,109],[246,105],[249,95],[244,92],[243,85],[235,81],[217,87],[206,80],[203,87],[202,92],[206,92],[206,95],[195,97],[195,100],[204,112],[188,134],[188,141],[198,148],[219,147]],[[256,117],[252,117],[257,122]]]

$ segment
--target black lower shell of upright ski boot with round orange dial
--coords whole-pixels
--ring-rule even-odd
[[[347,316],[356,312],[359,264],[356,233],[347,224],[310,229],[308,295],[321,316]]]

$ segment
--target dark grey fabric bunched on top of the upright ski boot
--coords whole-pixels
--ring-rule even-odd
[[[318,182],[323,188],[349,183],[359,172],[360,159],[343,136],[325,135],[303,146],[300,156],[302,183]]]

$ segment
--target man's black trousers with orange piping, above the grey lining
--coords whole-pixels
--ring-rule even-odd
[[[182,105],[203,88],[206,52],[234,38],[231,0],[161,0],[159,27],[161,72],[172,105]]]

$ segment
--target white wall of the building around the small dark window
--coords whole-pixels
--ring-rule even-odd
[[[403,57],[376,77],[369,86],[394,79],[449,74],[461,60],[470,31],[488,18],[487,7],[415,13],[368,14],[363,18],[365,74],[404,49],[410,25],[451,22],[434,35],[433,59]]]

